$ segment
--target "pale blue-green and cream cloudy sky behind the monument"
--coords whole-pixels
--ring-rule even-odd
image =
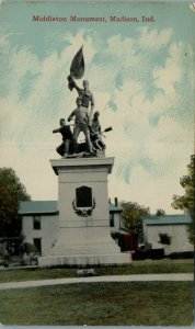
[[[70,22],[71,15],[105,21]],[[130,22],[111,22],[114,15]],[[113,127],[104,140],[115,158],[108,196],[176,214],[172,196],[184,194],[180,178],[194,152],[194,23],[190,2],[2,2],[0,167],[15,170],[32,200],[57,200],[49,159],[60,158],[61,136],[51,132],[76,107],[67,76],[83,45],[83,78],[102,128]]]

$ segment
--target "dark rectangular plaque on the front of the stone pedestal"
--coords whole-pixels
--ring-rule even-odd
[[[76,203],[77,207],[91,207],[92,189],[88,186],[81,186],[76,189]]]

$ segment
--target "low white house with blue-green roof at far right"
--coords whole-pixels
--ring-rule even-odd
[[[147,249],[164,248],[164,254],[193,251],[188,241],[190,215],[151,215],[142,222],[144,243]]]

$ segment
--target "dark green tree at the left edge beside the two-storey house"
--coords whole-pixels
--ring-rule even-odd
[[[18,215],[21,201],[31,196],[12,168],[0,168],[0,236],[15,237],[21,230]]]

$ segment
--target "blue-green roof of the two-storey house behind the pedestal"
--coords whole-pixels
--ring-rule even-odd
[[[122,212],[121,207],[114,204],[108,204],[110,212]],[[23,201],[20,204],[19,215],[32,215],[32,214],[57,214],[58,202],[57,201]]]

